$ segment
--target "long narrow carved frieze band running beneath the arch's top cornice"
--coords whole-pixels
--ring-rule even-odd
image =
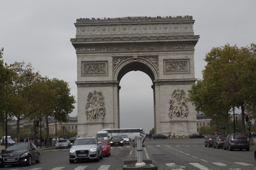
[[[93,48],[76,48],[76,52],[95,53],[95,52],[113,52],[113,51],[169,51],[169,50],[190,50],[194,45],[140,45],[140,46],[107,46]]]

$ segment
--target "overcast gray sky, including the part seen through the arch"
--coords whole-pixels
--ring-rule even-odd
[[[195,20],[195,78],[202,78],[205,54],[227,43],[256,43],[255,0],[1,0],[0,48],[4,62],[32,63],[35,71],[69,83],[77,100],[75,38],[77,18],[184,16]],[[150,78],[132,71],[120,81],[120,126],[154,127]],[[77,115],[76,108],[70,116]]]

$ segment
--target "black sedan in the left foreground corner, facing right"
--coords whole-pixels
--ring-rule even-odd
[[[16,164],[30,166],[33,161],[40,162],[40,152],[35,144],[29,142],[9,144],[0,154],[1,168]]]

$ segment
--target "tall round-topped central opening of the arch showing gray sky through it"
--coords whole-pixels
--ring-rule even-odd
[[[153,85],[142,71],[129,71],[120,80],[120,128],[154,128]]]

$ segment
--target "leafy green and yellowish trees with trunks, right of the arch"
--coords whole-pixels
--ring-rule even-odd
[[[212,48],[205,56],[207,65],[202,80],[189,90],[188,99],[211,118],[225,120],[229,132],[230,109],[255,111],[256,45],[238,48],[226,44]],[[243,123],[243,133],[245,126]]]

